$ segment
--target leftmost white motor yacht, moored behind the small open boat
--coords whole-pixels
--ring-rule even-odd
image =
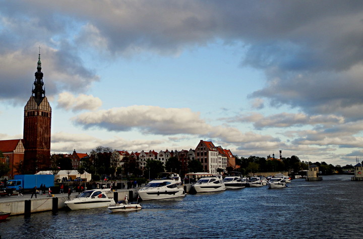
[[[110,189],[87,190],[78,195],[77,198],[65,201],[65,204],[72,210],[107,207],[114,203],[114,200],[107,197]]]

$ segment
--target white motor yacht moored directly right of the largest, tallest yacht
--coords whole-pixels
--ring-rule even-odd
[[[222,175],[202,177],[196,184],[192,185],[192,187],[197,193],[217,192],[226,189],[222,180]]]

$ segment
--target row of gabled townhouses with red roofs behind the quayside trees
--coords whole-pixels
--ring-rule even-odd
[[[146,161],[148,159],[159,160],[163,165],[167,162],[170,157],[175,156],[181,162],[181,169],[188,171],[188,162],[197,159],[202,163],[203,170],[205,172],[217,174],[218,168],[226,171],[227,167],[232,167],[235,169],[238,165],[235,164],[235,157],[229,149],[223,149],[221,146],[214,146],[211,141],[201,140],[196,147],[196,149],[189,150],[160,150],[155,152],[154,150],[141,152],[127,152],[127,151],[117,151],[120,154],[118,160],[118,166],[124,164],[123,159],[126,156],[134,157],[140,165],[140,169],[144,169],[146,166]]]

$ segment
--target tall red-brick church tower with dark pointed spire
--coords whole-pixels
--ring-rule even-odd
[[[43,89],[40,52],[32,95],[24,107],[24,170],[35,173],[50,167],[51,107]]]

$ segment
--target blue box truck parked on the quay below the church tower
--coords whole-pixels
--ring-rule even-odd
[[[24,190],[32,189],[35,186],[37,188],[40,185],[48,187],[54,186],[54,175],[53,174],[21,174],[14,175],[13,180],[8,180],[8,188],[19,190],[21,186]]]

